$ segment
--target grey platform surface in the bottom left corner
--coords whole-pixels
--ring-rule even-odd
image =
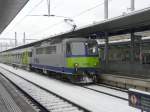
[[[25,97],[0,74],[0,112],[37,112]]]

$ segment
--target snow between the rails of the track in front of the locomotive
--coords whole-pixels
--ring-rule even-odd
[[[114,90],[114,89],[110,89],[110,88],[102,87],[102,86],[97,86],[97,85],[90,85],[90,86],[87,86],[87,87],[91,88],[91,89],[98,90],[98,91],[111,93],[112,95],[116,95],[116,96],[128,99],[128,94],[125,93],[125,92],[122,92],[122,91],[117,91],[117,90]]]

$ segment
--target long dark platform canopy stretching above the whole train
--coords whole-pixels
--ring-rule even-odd
[[[104,37],[107,33],[108,36],[121,35],[131,32],[141,32],[150,30],[150,8],[143,9],[140,11],[134,11],[129,14],[125,14],[116,18],[107,19],[105,21],[92,24],[83,28],[76,29],[55,36],[48,37],[33,43],[29,43],[23,46],[18,46],[19,49],[24,47],[31,47],[35,44],[51,40],[51,39],[62,39],[62,38],[73,38],[73,37],[87,37],[91,35],[98,35],[98,37]],[[11,49],[10,49],[11,50]]]

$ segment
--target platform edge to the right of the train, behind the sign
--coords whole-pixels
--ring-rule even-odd
[[[99,81],[104,84],[113,85],[121,88],[136,88],[150,92],[150,79],[130,77],[121,74],[101,74]]]

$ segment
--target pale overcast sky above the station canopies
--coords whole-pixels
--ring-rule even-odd
[[[146,7],[150,7],[150,0],[135,0],[135,10]],[[130,13],[129,8],[130,0],[109,0],[109,18]],[[73,19],[71,24],[76,24],[77,28],[103,21],[104,0],[50,0],[50,14],[63,17],[42,16],[46,14],[47,0],[29,0],[0,38],[14,38],[14,32],[17,32],[20,45],[23,43],[23,32],[26,33],[26,39],[39,40],[70,31],[72,26],[64,22],[64,17]],[[13,44],[13,41],[8,41],[8,44]]]

